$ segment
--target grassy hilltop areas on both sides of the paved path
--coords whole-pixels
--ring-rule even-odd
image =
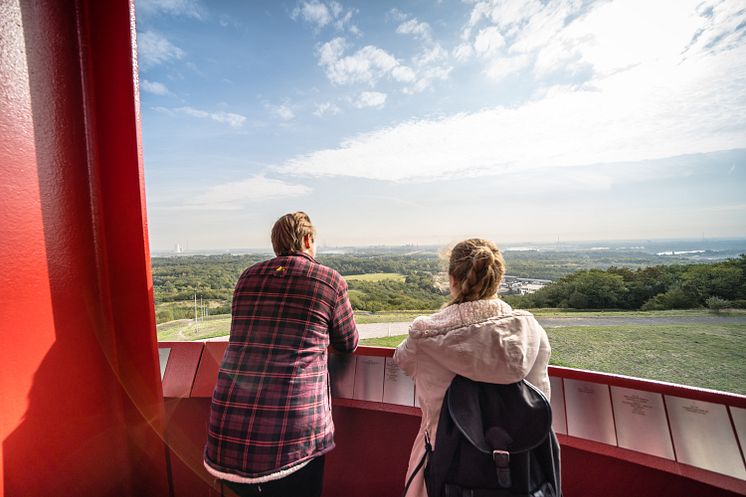
[[[432,311],[357,314],[359,324],[411,321]],[[722,316],[744,316],[744,311]],[[559,312],[540,311],[539,317],[704,317],[695,311]],[[161,341],[189,341],[224,336],[230,316],[210,316],[195,326],[181,319],[158,325]],[[746,324],[652,324],[568,326],[548,328],[551,364],[604,371],[640,378],[713,388],[746,395]],[[396,347],[404,336],[363,340],[364,345]]]

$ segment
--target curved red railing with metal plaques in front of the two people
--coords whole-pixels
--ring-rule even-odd
[[[171,355],[163,389],[169,413],[167,441],[176,461],[175,494],[197,495],[194,490],[200,485],[213,484],[201,468],[201,448],[210,395],[227,343],[159,346],[170,349]],[[330,356],[330,369],[336,375],[332,386],[337,448],[327,460],[326,497],[380,497],[401,492],[420,410],[414,405],[413,384],[409,396],[406,382],[411,380],[392,364],[393,352],[391,348],[360,347],[342,369],[338,365],[332,367],[339,356]],[[352,379],[340,379],[350,371]],[[564,367],[550,367],[549,374],[555,431],[562,445],[565,495],[746,495],[746,464],[741,446],[744,432],[739,425],[741,415],[746,413],[746,397]],[[338,384],[340,381],[346,381],[346,386]],[[404,402],[383,401],[391,382],[399,382],[394,386]],[[619,400],[620,392],[632,400],[615,403],[614,397]],[[591,400],[584,396],[591,396]],[[663,406],[665,417],[658,416],[658,420],[665,420],[665,425],[660,425],[665,428],[652,432],[651,437],[663,441],[662,445],[670,444],[669,457],[650,453],[649,448],[635,450],[624,446],[629,442],[623,435],[629,431],[625,423],[630,418],[625,409],[642,410],[644,415],[632,418],[638,425],[640,418],[647,417],[643,422],[656,418],[655,409],[646,407],[645,399],[651,399],[648,404]],[[635,403],[643,405],[635,407]],[[687,416],[694,416],[699,424],[691,425]],[[718,424],[722,419],[727,426]],[[604,423],[611,427],[610,432],[594,431],[593,425]],[[690,429],[682,431],[687,426]],[[713,439],[711,433],[727,436]],[[602,441],[598,434],[608,438]],[[610,440],[613,443],[608,443]],[[727,455],[728,450],[733,455],[725,466],[723,461],[707,457],[713,444],[718,451],[716,459]],[[744,471],[743,476],[739,471]]]

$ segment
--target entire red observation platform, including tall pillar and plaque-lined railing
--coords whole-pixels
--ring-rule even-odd
[[[134,2],[0,2],[0,496],[217,495],[225,344],[156,342]],[[419,425],[390,349],[331,361],[325,495],[400,494]],[[746,495],[746,398],[552,368],[568,497]]]

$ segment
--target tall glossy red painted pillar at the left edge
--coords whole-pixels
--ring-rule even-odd
[[[133,6],[0,2],[0,495],[168,495]]]

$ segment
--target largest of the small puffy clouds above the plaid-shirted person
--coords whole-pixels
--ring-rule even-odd
[[[334,38],[317,49],[319,65],[334,84],[366,83],[372,86],[387,75],[397,81],[413,79],[411,69],[407,70],[406,66],[385,50],[367,45],[352,55],[343,56],[345,48],[343,38]]]

